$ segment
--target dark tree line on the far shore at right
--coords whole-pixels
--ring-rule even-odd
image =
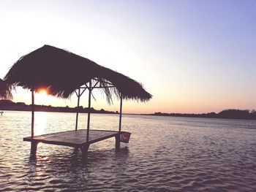
[[[155,112],[151,115],[189,117],[189,118],[226,118],[226,119],[251,119],[256,120],[256,110],[222,110],[221,112],[208,112],[201,114],[189,113],[163,113]]]

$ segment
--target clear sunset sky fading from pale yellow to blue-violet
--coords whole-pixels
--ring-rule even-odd
[[[124,112],[256,109],[255,0],[0,0],[0,78],[45,44],[142,82],[153,99],[125,101]],[[94,96],[95,109],[118,110]],[[35,99],[75,107],[75,97]],[[18,88],[14,101],[30,104],[31,94]]]

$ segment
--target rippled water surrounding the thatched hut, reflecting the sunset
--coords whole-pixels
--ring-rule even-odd
[[[30,112],[0,115],[0,191],[256,191],[256,121],[124,115],[129,144],[39,144],[30,158]],[[86,127],[86,114],[79,128]],[[94,129],[118,130],[117,115],[92,115]],[[75,128],[75,114],[36,112],[35,134]]]

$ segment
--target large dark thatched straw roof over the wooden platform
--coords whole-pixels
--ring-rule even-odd
[[[4,80],[15,86],[36,91],[42,87],[48,88],[51,95],[60,98],[69,98],[75,89],[91,79],[99,80],[100,86],[115,86],[103,88],[109,102],[113,96],[119,98],[120,94],[124,99],[151,99],[151,94],[139,82],[99,66],[88,58],[50,45],[22,56],[4,77]]]

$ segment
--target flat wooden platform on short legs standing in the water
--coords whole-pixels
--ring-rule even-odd
[[[99,142],[110,137],[116,138],[116,150],[120,149],[120,136],[118,131],[105,131],[105,130],[90,130],[89,142],[86,142],[87,129],[80,129],[78,131],[62,131],[53,134],[42,134],[38,136],[24,137],[23,141],[31,142],[31,150],[37,150],[39,142],[64,145],[69,147],[79,147],[84,155],[87,154],[89,145],[94,142]]]

